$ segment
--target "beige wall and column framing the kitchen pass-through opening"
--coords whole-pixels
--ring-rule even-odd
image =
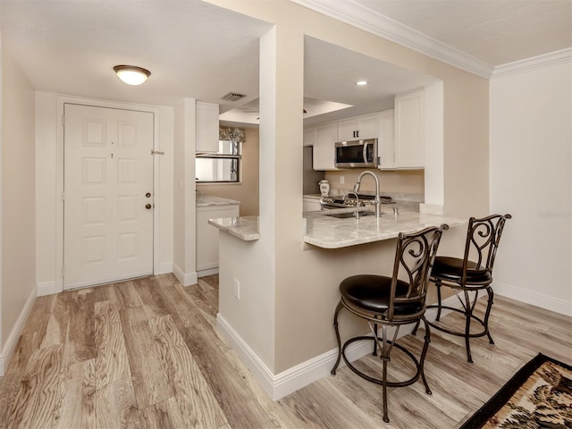
[[[264,255],[265,264],[273,265],[273,270],[265,270],[264,275],[253,274],[241,286],[260,291],[273,289],[274,293],[265,293],[272,302],[257,299],[257,307],[273,308],[273,315],[252,314],[246,310],[248,305],[242,303],[245,311],[233,317],[240,319],[237,332],[248,346],[260,352],[258,356],[265,365],[278,374],[335,347],[331,317],[338,297],[337,284],[351,271],[382,272],[387,265],[384,261],[391,259],[393,253],[391,242],[347,252],[304,250],[299,215],[303,125],[301,115],[292,114],[302,105],[304,65],[300,52],[304,35],[442,80],[444,155],[442,171],[438,173],[444,174],[445,214],[468,217],[489,210],[488,81],[291,2],[209,1],[276,24],[276,58],[261,56],[260,99],[271,99],[260,123],[264,147],[271,147],[264,151],[261,147],[260,152],[264,178],[260,186],[263,240],[242,252],[237,263],[256,267],[260,263],[255,256]],[[274,81],[267,82],[270,79],[262,71],[271,66]],[[261,108],[264,106],[261,103]],[[264,172],[263,165],[267,167]],[[448,232],[442,240],[443,251],[457,249],[458,241],[463,240],[462,231]],[[366,257],[361,257],[362,252]],[[374,260],[380,264],[371,264]],[[225,287],[221,285],[221,289]],[[261,324],[273,326],[272,335],[261,335]],[[267,350],[268,343],[273,343],[273,353]]]

